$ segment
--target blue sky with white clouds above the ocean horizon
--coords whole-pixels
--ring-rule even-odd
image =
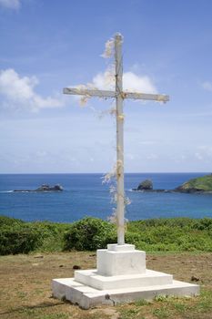
[[[210,0],[0,0],[0,172],[106,172],[116,162],[113,100],[63,87],[106,84],[106,40],[124,36],[125,170],[211,171]]]

